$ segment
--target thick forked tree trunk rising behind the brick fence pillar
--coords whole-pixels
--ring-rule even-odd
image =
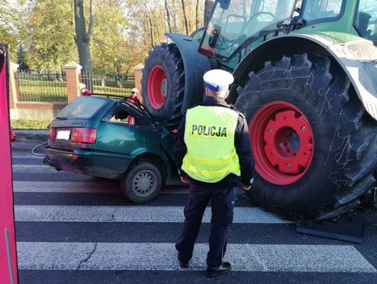
[[[94,12],[92,0],[89,0],[89,27],[87,30],[84,17],[84,1],[74,0],[75,4],[75,31],[76,45],[79,54],[80,65],[84,70],[91,71],[91,57],[89,43],[94,27]]]

